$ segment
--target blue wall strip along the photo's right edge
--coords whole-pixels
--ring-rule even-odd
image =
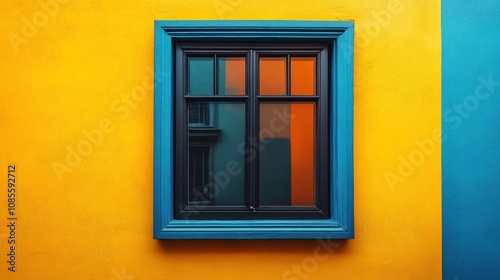
[[[443,279],[500,279],[500,1],[442,1]]]

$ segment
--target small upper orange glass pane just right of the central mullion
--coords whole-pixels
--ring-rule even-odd
[[[260,58],[259,93],[261,95],[286,95],[285,57]]]

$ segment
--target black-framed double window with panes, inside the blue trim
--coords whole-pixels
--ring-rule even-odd
[[[329,218],[331,46],[174,47],[174,218]]]

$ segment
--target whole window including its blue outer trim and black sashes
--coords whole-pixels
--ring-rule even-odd
[[[154,236],[352,238],[351,22],[157,21]]]

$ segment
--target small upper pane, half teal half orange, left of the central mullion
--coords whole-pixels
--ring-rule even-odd
[[[222,57],[219,63],[219,95],[245,95],[244,57]]]

